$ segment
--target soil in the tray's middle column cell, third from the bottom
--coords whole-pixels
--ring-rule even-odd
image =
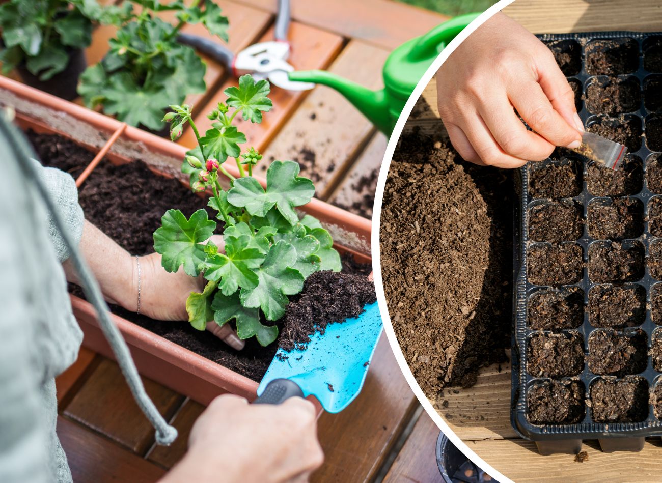
[[[589,290],[589,322],[593,327],[634,327],[645,316],[646,290],[641,285],[596,285]]]

